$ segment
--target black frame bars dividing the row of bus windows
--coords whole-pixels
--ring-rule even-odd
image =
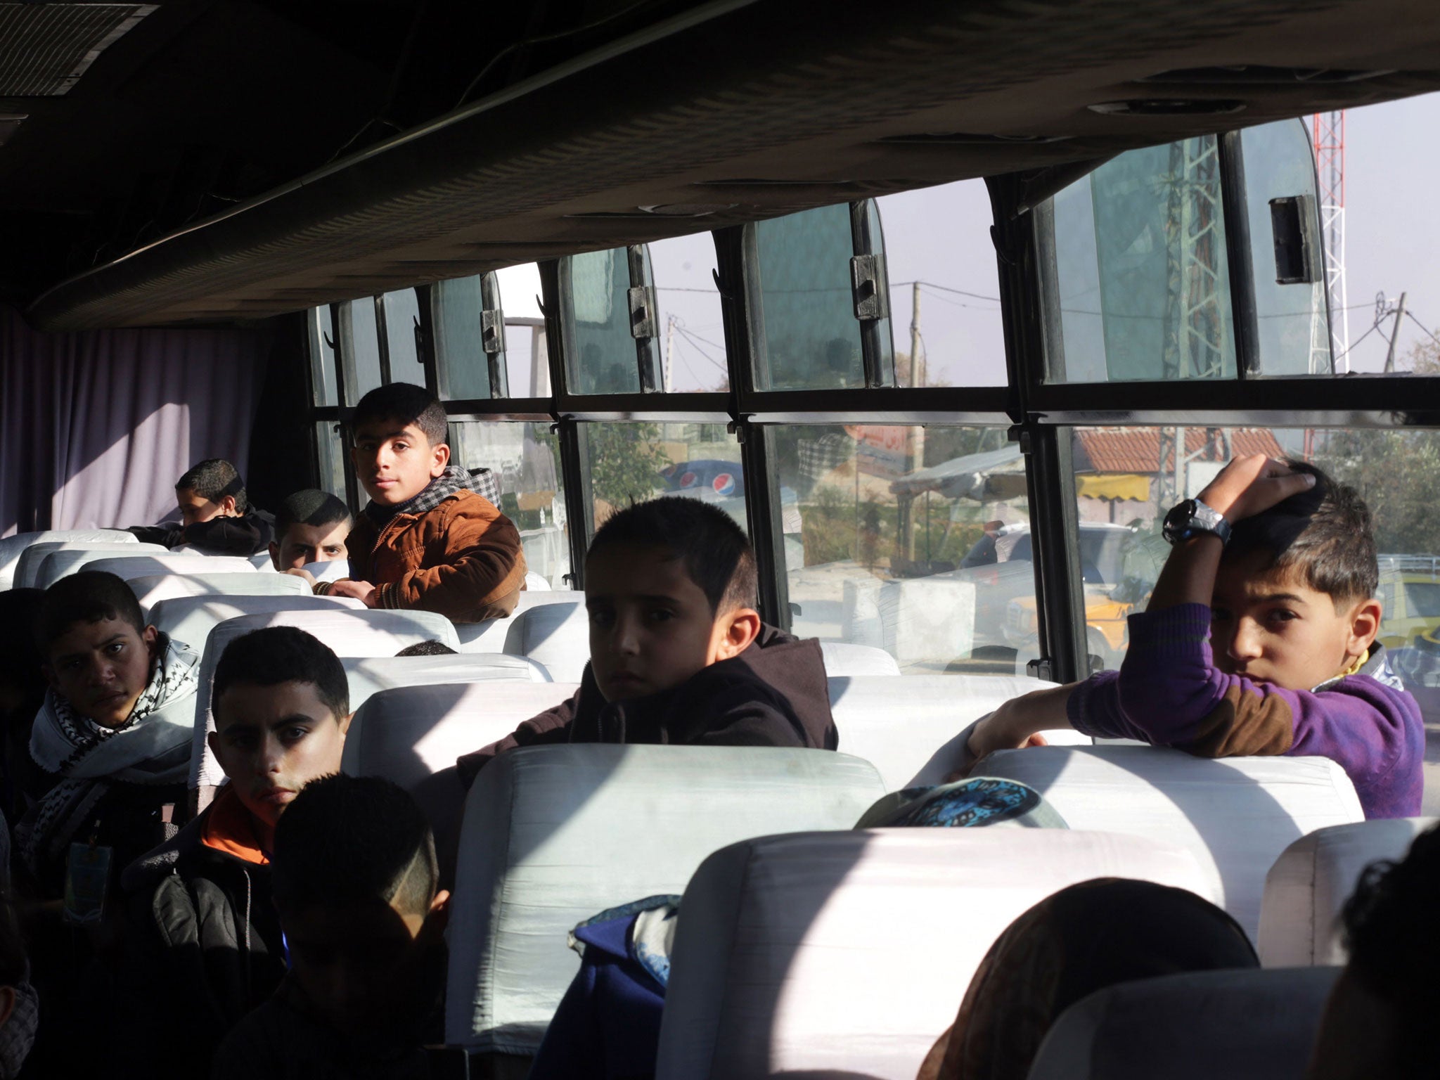
[[[651,380],[644,377],[645,340],[636,338],[638,393],[583,395],[569,384],[567,295],[562,288],[563,259],[539,264],[541,311],[550,373],[549,396],[445,400],[452,420],[547,422],[559,435],[560,469],[570,523],[570,583],[585,585],[585,546],[590,533],[589,468],[580,425],[642,420],[657,423],[726,423],[740,444],[747,495],[747,521],[760,577],[759,605],[766,621],[789,626],[786,563],[780,533],[779,478],[772,468],[772,431],[779,425],[945,425],[1004,428],[1025,458],[1027,492],[1034,549],[1038,608],[1040,661],[1032,672],[1056,681],[1086,674],[1084,598],[1079,556],[1079,514],[1071,462],[1070,428],[1212,425],[1212,426],[1315,426],[1315,428],[1440,428],[1440,376],[1260,376],[1254,331],[1254,287],[1248,219],[1244,212],[1244,163],[1240,132],[1218,132],[1221,199],[1225,222],[1236,333],[1236,374],[1228,379],[1185,382],[1045,382],[1050,348],[1063,343],[1047,337],[1044,276],[1047,259],[1038,229],[1045,225],[1048,194],[1084,174],[1084,166],[1066,164],[1028,174],[986,179],[991,225],[999,271],[1004,328],[1005,386],[953,386],[910,389],[894,384],[893,346],[888,376],[881,360],[878,325],[861,327],[867,386],[835,390],[770,390],[757,383],[756,357],[763,356],[763,312],[757,282],[755,223],[711,232],[716,246],[716,282],[724,323],[727,392],[675,393],[658,387],[655,337]],[[1090,163],[1094,167],[1099,163]],[[1312,161],[1313,164],[1313,161]],[[883,253],[883,238],[870,226],[868,200],[851,200],[852,246],[857,255]],[[654,282],[644,245],[626,249],[631,288]],[[635,276],[641,285],[636,287]],[[419,292],[420,348],[432,392],[441,382],[435,357],[433,287]],[[888,300],[888,298],[887,298]],[[376,298],[377,315],[383,302]],[[314,420],[348,426],[346,360],[338,328],[338,304],[330,305],[333,351],[340,406],[311,406]],[[1250,327],[1247,331],[1246,327]],[[387,379],[387,336],[377,323],[382,374]],[[876,331],[876,333],[871,333]],[[893,330],[891,330],[893,334]],[[504,356],[503,353],[500,354]],[[311,367],[311,380],[314,367]],[[495,383],[491,383],[494,387]],[[649,386],[651,389],[645,389]],[[311,387],[314,403],[314,387]],[[359,508],[359,488],[341,433],[350,503]],[[312,467],[318,471],[318,448]]]

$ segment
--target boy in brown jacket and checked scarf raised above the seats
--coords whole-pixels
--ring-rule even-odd
[[[360,399],[351,423],[370,504],[346,541],[351,576],[315,592],[454,622],[510,615],[526,580],[520,533],[495,508],[488,471],[449,464],[445,408],[420,386],[390,383]]]

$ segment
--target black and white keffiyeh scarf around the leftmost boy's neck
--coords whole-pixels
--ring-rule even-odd
[[[154,671],[120,727],[102,727],[53,690],[35,717],[30,756],[62,778],[16,827],[24,864],[59,855],[112,782],[184,783],[190,773],[200,657],[160,635]]]

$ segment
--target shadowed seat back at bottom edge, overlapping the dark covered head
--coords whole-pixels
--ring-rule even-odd
[[[1338,968],[1122,982],[1066,1009],[1030,1080],[1302,1080]]]

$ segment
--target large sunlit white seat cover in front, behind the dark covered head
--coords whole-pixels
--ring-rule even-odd
[[[1005,927],[1096,877],[1210,896],[1182,847],[1104,832],[801,832],[716,851],[681,903],[657,1080],[913,1080]]]

